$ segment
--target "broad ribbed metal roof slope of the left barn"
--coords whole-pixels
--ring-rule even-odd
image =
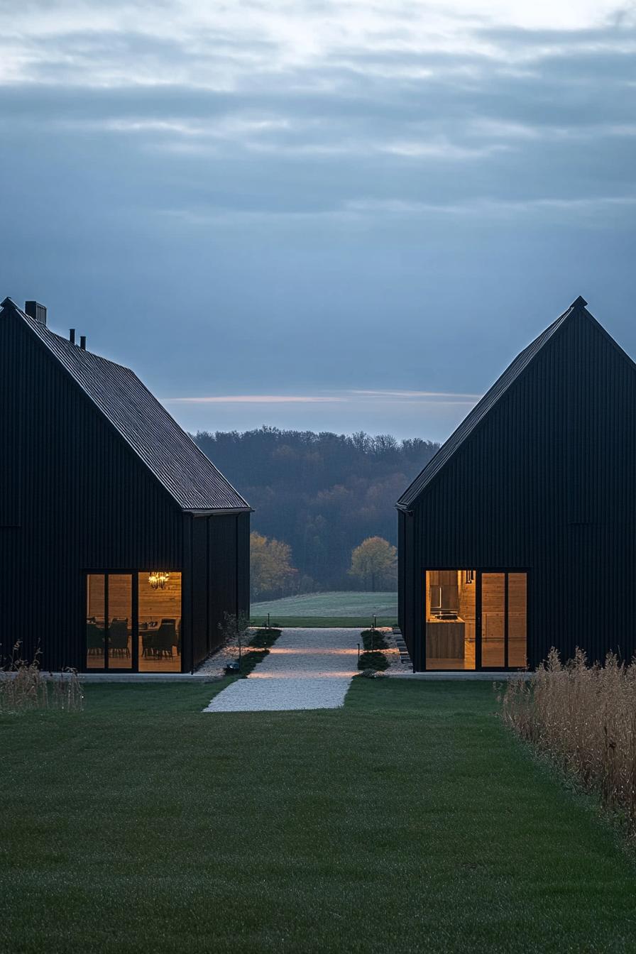
[[[252,509],[130,368],[56,335],[9,298],[2,306],[9,306],[45,344],[181,509]]]

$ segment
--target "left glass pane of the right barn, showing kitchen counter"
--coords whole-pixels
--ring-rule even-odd
[[[475,570],[426,570],[426,669],[475,669]]]

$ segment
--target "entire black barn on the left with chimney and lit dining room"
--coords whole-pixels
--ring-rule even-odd
[[[0,311],[0,657],[186,672],[249,612],[250,507],[131,370]]]

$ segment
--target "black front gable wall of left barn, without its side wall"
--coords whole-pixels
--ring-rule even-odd
[[[45,668],[79,667],[82,571],[182,570],[183,514],[7,312],[0,355],[3,432],[20,421],[2,481],[17,455],[22,497],[20,526],[0,529],[0,654],[19,639],[28,658],[41,647]]]

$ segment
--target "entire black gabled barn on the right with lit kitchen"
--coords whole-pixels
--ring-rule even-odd
[[[636,364],[579,298],[400,497],[416,672],[636,651]]]

